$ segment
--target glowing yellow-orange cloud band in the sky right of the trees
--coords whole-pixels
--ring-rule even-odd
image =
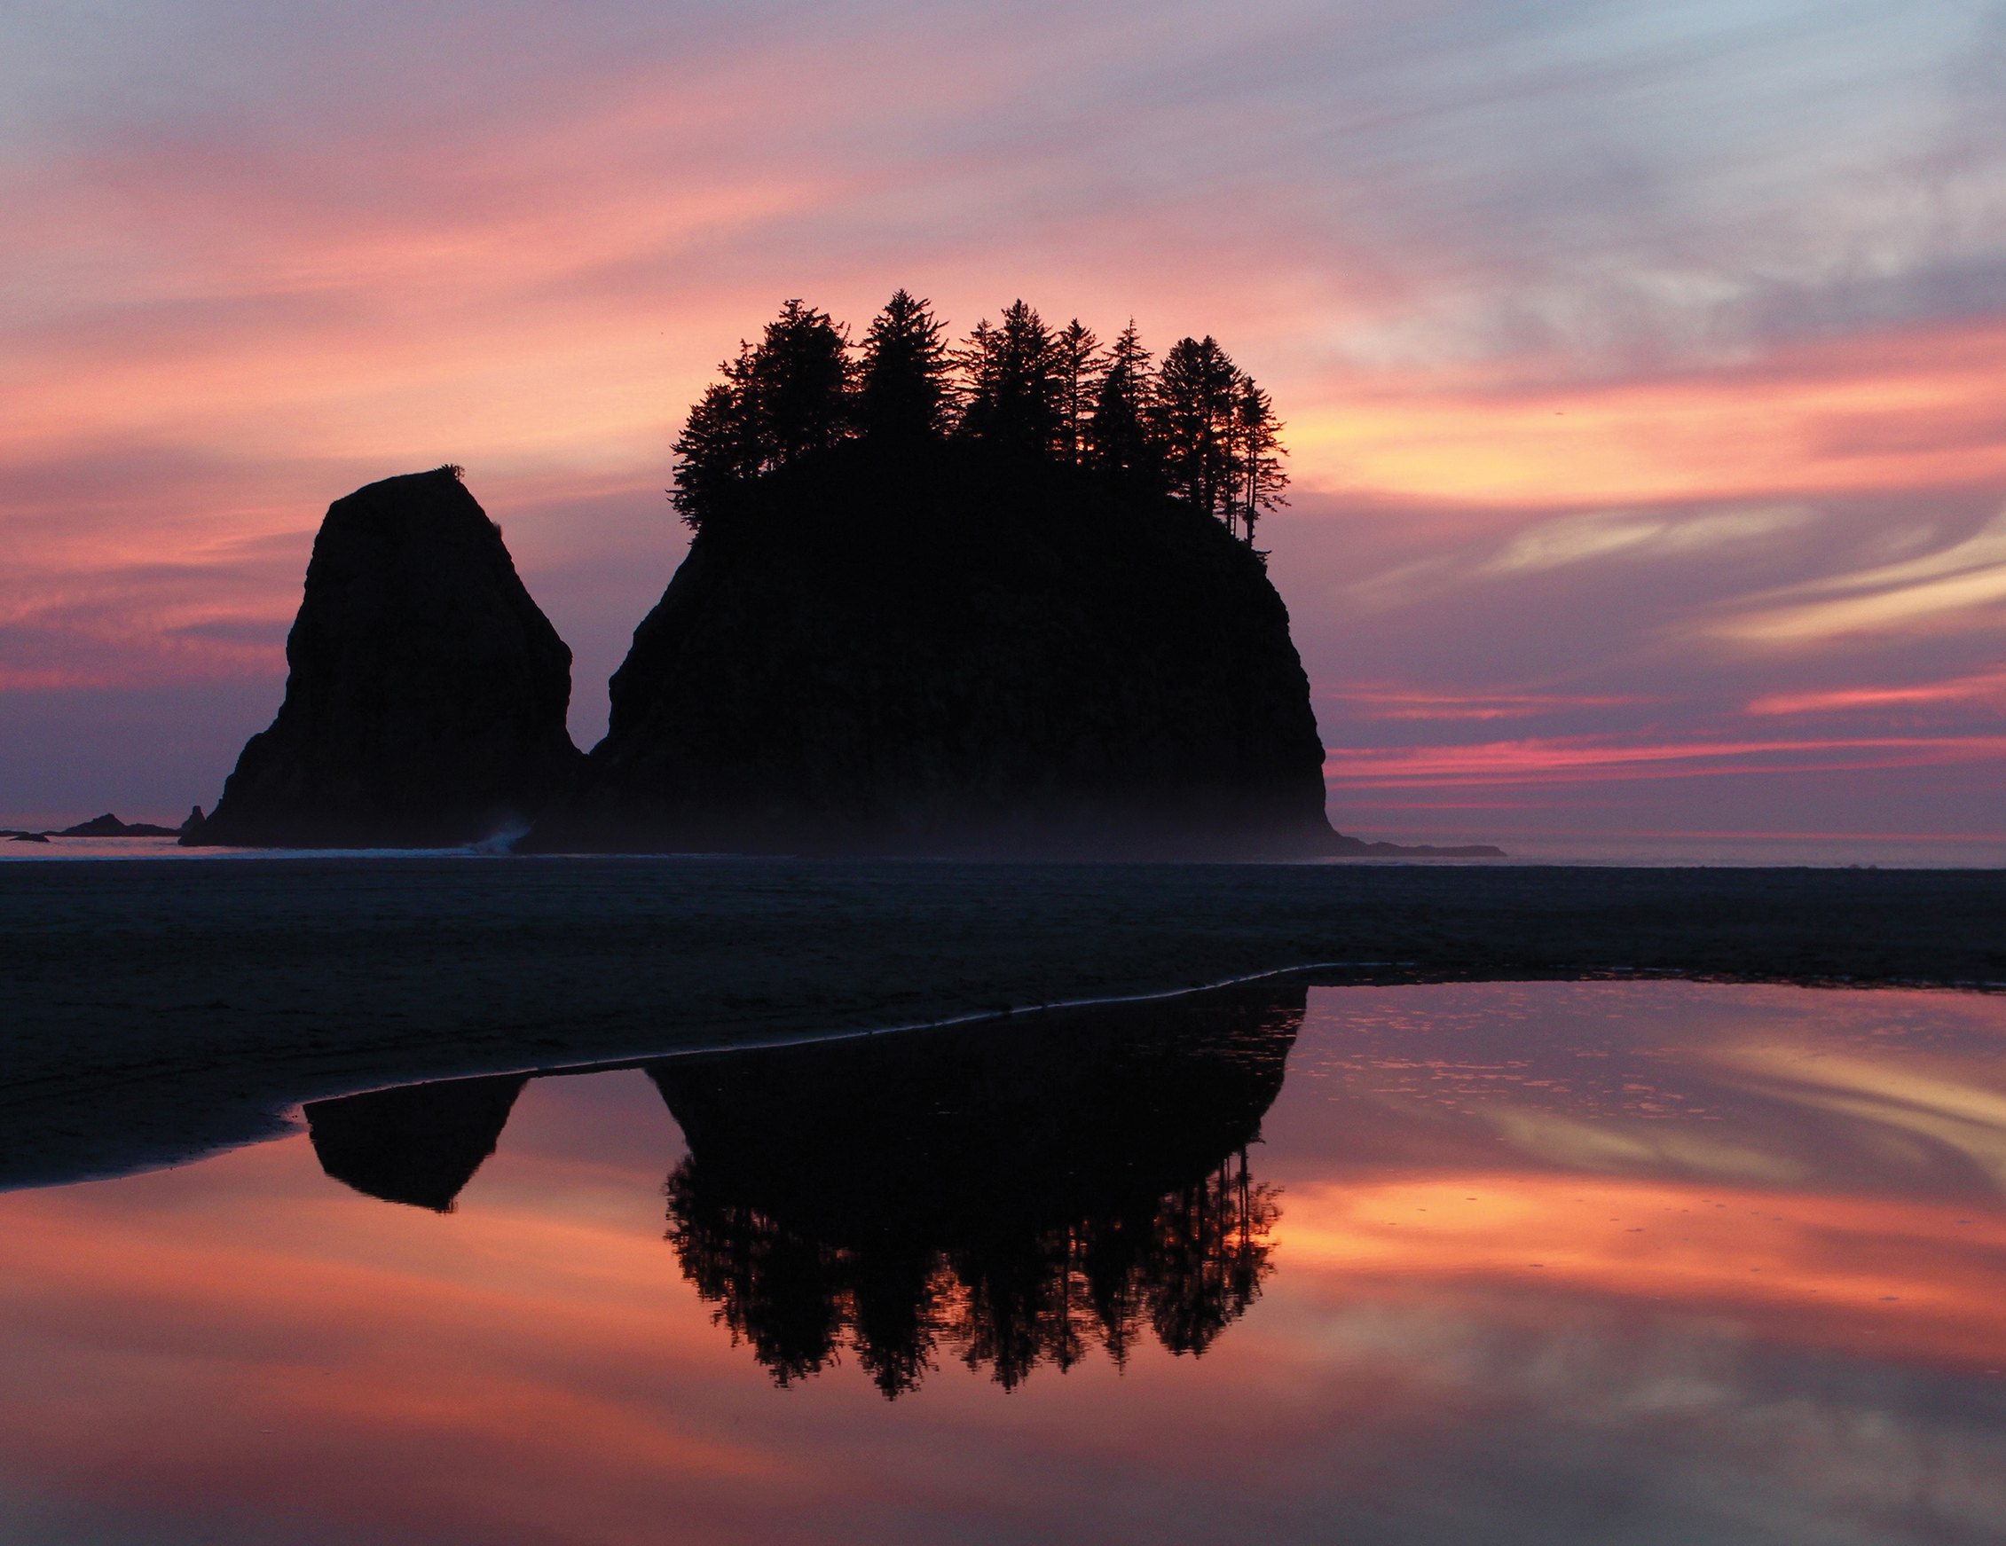
[[[2006,481],[2002,369],[2006,327],[1988,321],[1615,381],[1334,379],[1292,393],[1294,469],[1318,489],[1507,505]]]

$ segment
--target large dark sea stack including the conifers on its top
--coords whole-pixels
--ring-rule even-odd
[[[676,449],[688,559],[540,846],[1276,854],[1324,820],[1262,393],[1025,305],[949,351],[790,303]]]

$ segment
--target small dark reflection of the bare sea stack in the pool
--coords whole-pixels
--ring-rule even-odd
[[[369,1197],[449,1213],[495,1151],[528,1075],[449,1079],[309,1101],[321,1169]]]

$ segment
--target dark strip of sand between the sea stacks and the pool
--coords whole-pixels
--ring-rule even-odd
[[[2000,987],[2006,870],[48,862],[0,868],[0,952],[6,1187],[171,1163],[355,1089],[1288,967]]]

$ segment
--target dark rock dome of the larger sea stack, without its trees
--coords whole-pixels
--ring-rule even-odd
[[[1322,852],[1322,744],[1256,553],[1161,497],[849,445],[712,521],[550,846]]]

